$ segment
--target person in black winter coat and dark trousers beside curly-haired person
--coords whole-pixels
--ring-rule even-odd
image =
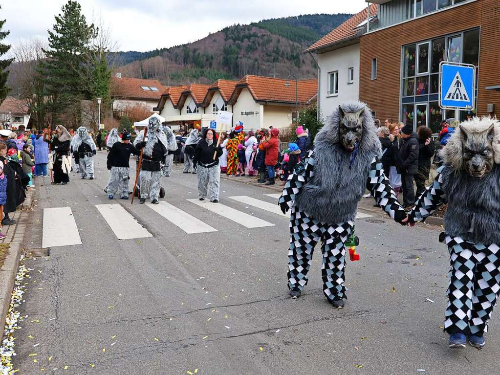
[[[413,125],[406,124],[401,129],[401,137],[404,143],[397,157],[399,170],[401,172],[401,187],[403,190],[403,207],[413,206],[415,203],[415,189],[413,180],[418,173],[418,135],[413,132]]]

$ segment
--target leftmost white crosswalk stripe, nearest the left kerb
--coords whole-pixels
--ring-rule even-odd
[[[43,208],[41,247],[80,245],[71,207]]]

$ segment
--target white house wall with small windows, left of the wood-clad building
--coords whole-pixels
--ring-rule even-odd
[[[359,99],[359,43],[321,53],[317,56],[321,70],[319,76],[319,110],[322,118],[330,115],[333,108],[347,100]],[[347,83],[347,70],[354,68],[354,82]],[[328,94],[328,73],[338,71],[338,94]]]

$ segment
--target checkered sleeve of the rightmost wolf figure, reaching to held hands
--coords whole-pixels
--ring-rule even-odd
[[[443,176],[441,171],[444,165],[437,169],[437,175],[429,186],[417,199],[415,206],[408,212],[409,221],[424,221],[441,204],[448,201],[445,192],[442,190]]]

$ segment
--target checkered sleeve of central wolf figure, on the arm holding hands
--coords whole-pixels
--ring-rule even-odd
[[[366,188],[375,198],[375,202],[382,210],[397,222],[401,222],[406,217],[406,212],[399,204],[396,194],[390,186],[389,180],[385,177],[382,162],[375,156],[371,161],[370,171]]]

